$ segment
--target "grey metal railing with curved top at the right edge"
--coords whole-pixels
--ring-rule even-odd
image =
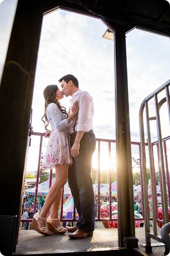
[[[142,164],[142,193],[143,193],[143,209],[145,218],[145,233],[146,233],[146,251],[152,251],[151,238],[162,242],[161,236],[158,235],[157,223],[166,224],[169,222],[169,207],[170,207],[170,178],[168,169],[167,147],[166,142],[170,140],[170,136],[162,139],[161,131],[161,116],[160,108],[164,103],[167,103],[168,116],[164,117],[164,120],[170,121],[170,95],[169,95],[170,80],[164,83],[161,87],[151,93],[144,99],[139,111],[140,122],[140,142],[141,142],[141,164]],[[154,106],[154,107],[153,107]],[[145,109],[145,125],[144,125],[144,109]],[[154,113],[154,116],[151,114]],[[165,114],[166,112],[164,112]],[[151,143],[153,120],[156,121],[155,130],[157,130],[157,142]],[[152,123],[151,123],[152,122]],[[152,193],[152,213],[153,213],[153,233],[150,230],[150,218],[148,209],[148,184],[146,173],[146,143],[145,143],[145,130],[148,141],[148,155],[149,166],[151,175],[151,193]],[[169,133],[170,128],[167,127]],[[156,179],[155,179],[155,157],[154,157],[154,145],[157,147],[157,161],[160,177],[161,188],[161,206],[163,219],[158,218],[158,202],[156,193]]]

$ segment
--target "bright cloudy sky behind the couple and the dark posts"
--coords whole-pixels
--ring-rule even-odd
[[[16,0],[9,0],[9,3],[8,12],[13,9],[12,3],[15,7]],[[0,23],[3,24],[3,16]],[[80,89],[89,92],[93,97],[93,128],[96,138],[115,140],[114,52],[113,41],[102,38],[106,29],[100,19],[64,10],[52,12],[43,18],[32,104],[34,132],[45,131],[41,120],[44,114],[45,87],[48,84],[57,84],[60,88],[58,80],[63,75],[73,74],[79,80]],[[6,33],[2,27],[0,31]],[[7,41],[3,40],[1,44],[0,53],[4,52]],[[146,96],[170,79],[170,39],[134,29],[126,34],[126,48],[131,141],[140,142],[140,105]],[[65,97],[61,101],[67,110],[70,106],[69,99]],[[166,137],[169,136],[167,108],[163,107],[161,112],[161,128],[163,137]],[[154,142],[157,140],[155,121],[152,121],[151,128]],[[27,172],[37,169],[39,142],[34,137],[31,137]],[[43,139],[43,154],[47,140]],[[113,168],[116,166],[115,145],[112,145],[111,162],[107,148],[107,143],[101,143],[101,169],[107,169],[110,165]],[[139,158],[137,146],[132,146],[132,157]],[[96,150],[92,164],[94,167],[97,161]]]

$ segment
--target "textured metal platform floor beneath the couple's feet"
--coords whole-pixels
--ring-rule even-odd
[[[145,228],[138,227],[135,229],[138,238],[137,250],[143,255],[163,256],[165,245],[154,239],[151,239],[152,253],[145,253]],[[160,230],[158,230],[159,232]],[[151,227],[152,233],[152,227]],[[16,245],[15,254],[34,253],[62,253],[62,252],[81,252],[101,248],[118,249],[118,230],[104,229],[102,223],[97,223],[93,236],[85,239],[71,239],[68,237],[69,232],[64,235],[51,234],[44,236],[34,230],[19,231],[18,244]],[[160,234],[158,234],[160,235]]]

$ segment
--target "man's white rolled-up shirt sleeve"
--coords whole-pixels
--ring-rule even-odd
[[[92,97],[88,93],[81,93],[78,99],[79,113],[77,131],[88,131],[92,106]]]

